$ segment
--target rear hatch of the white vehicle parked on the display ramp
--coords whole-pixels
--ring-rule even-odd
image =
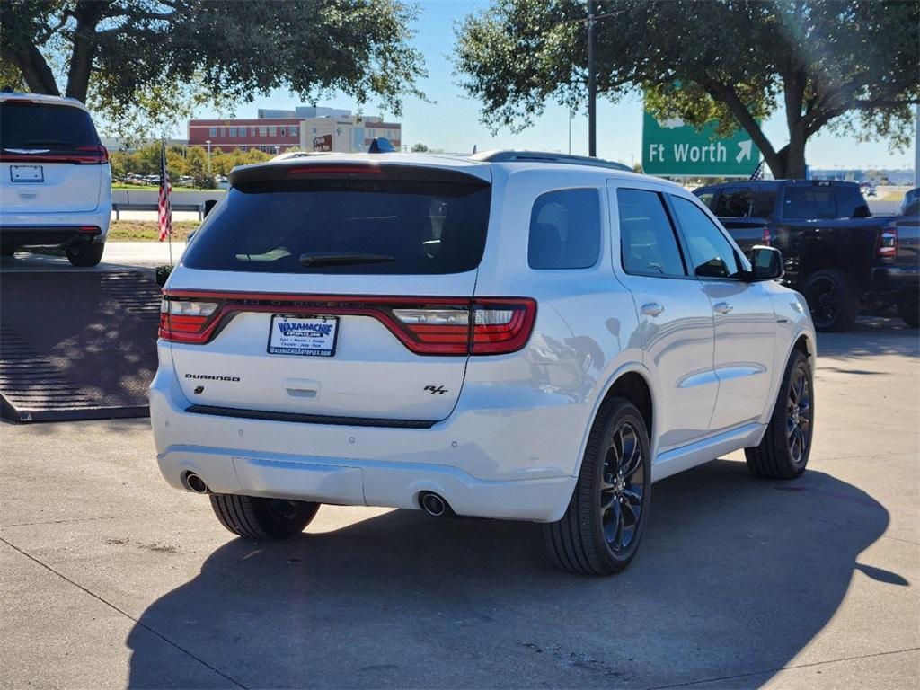
[[[0,101],[0,207],[7,213],[95,210],[108,160],[86,110]]]

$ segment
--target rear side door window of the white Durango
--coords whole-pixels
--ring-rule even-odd
[[[617,190],[620,251],[627,273],[684,276],[684,261],[661,195],[654,191]]]

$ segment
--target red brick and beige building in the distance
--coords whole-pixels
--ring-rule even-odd
[[[189,145],[220,148],[258,148],[282,153],[302,151],[363,152],[374,137],[385,137],[398,150],[402,125],[376,116],[356,116],[351,110],[301,106],[293,110],[259,109],[259,117],[239,120],[190,120]]]

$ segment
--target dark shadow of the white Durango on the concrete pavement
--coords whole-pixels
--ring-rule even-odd
[[[820,471],[715,461],[656,484],[651,514],[614,578],[554,569],[538,525],[415,511],[233,539],[146,609],[129,686],[749,687],[831,620],[855,569],[908,584],[859,560],[889,513]],[[164,638],[201,673],[167,668]]]

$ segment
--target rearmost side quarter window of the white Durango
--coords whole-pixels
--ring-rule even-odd
[[[527,263],[532,269],[587,269],[601,251],[597,190],[550,191],[530,214]]]

